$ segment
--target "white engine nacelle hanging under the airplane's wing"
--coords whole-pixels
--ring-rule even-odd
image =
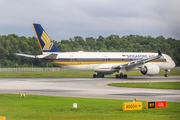
[[[160,69],[159,66],[156,64],[146,64],[144,68],[141,70],[143,75],[157,75]]]

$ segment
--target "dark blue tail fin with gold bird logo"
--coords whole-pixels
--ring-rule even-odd
[[[32,24],[42,52],[60,52],[40,24]]]

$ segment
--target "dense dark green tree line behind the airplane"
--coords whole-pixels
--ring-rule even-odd
[[[98,38],[75,36],[69,40],[55,41],[61,52],[157,52],[168,54],[180,66],[180,40],[158,36],[127,35],[119,37],[110,35]],[[0,67],[52,67],[52,64],[17,56],[18,50],[25,54],[39,55],[41,50],[36,37],[18,36],[15,34],[0,35]]]

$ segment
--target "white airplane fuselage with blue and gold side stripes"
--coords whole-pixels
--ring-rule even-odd
[[[50,53],[43,53],[43,55]],[[57,54],[57,53],[56,53]],[[139,52],[59,52],[56,59],[51,62],[55,65],[76,69],[93,70],[101,72],[116,72],[112,66],[121,65],[139,59],[156,56],[157,53]],[[162,54],[157,60],[152,60],[146,64],[156,64],[161,70],[168,70],[175,67],[174,61],[170,56]],[[126,70],[138,70],[138,66],[129,67]]]

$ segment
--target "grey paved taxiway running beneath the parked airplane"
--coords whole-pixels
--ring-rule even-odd
[[[166,100],[180,102],[180,90],[112,87],[108,83],[177,82],[180,76],[128,76],[106,78],[1,78],[0,93],[54,95],[67,97]]]

